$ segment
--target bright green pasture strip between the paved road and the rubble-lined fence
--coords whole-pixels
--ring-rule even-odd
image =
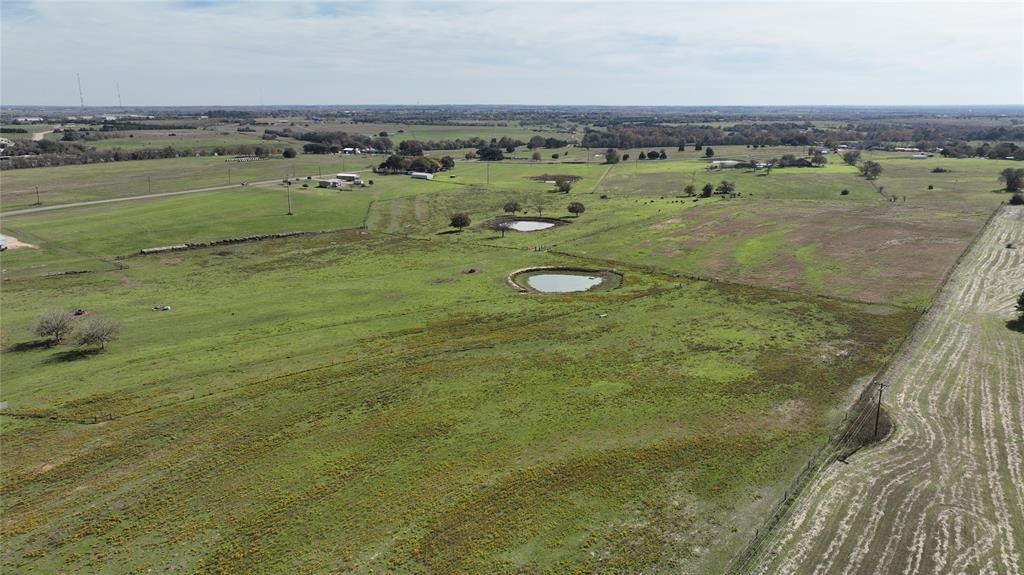
[[[288,188],[276,183],[12,217],[4,221],[3,232],[41,249],[5,255],[2,276],[25,279],[61,271],[106,270],[117,266],[114,258],[146,248],[355,228],[362,225],[373,202],[416,191],[398,183],[385,180],[373,187],[341,189],[293,185],[292,216]]]

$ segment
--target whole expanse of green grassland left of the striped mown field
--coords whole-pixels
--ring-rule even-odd
[[[880,154],[876,184],[907,195],[894,205],[840,165],[720,174],[669,154],[293,186],[293,216],[268,184],[5,217],[36,248],[0,256],[0,565],[722,572],[1005,198],[991,191],[1002,163],[932,175],[932,161]],[[236,166],[249,180],[341,170],[336,157],[232,165],[232,178]],[[222,183],[224,170],[5,172],[4,207],[32,180],[68,202],[144,193],[148,175],[163,189]],[[566,194],[553,175],[580,179]],[[722,178],[741,195],[678,196]],[[569,223],[502,236],[483,224],[510,201]],[[473,225],[450,233],[455,212]],[[132,255],[300,230],[337,231]],[[857,255],[891,241],[903,248]],[[543,265],[624,281],[506,285]],[[48,309],[116,318],[123,337],[101,352],[47,346],[33,328]]]

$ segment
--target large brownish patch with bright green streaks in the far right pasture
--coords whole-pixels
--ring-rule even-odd
[[[659,266],[755,285],[918,305],[987,214],[910,206],[728,203],[647,226]]]

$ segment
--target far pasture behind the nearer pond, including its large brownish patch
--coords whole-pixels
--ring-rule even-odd
[[[992,189],[998,170],[1011,163],[945,161],[951,172],[934,174],[934,159],[905,156],[874,157],[887,172],[873,185],[842,164],[771,175],[707,171],[696,160],[612,167],[461,164],[451,174],[456,178],[440,176],[458,187],[377,203],[368,222],[383,231],[429,236],[443,231],[452,214],[466,212],[476,225],[461,234],[464,240],[543,246],[665,272],[926,307],[956,257],[1007,198]],[[565,194],[544,178],[538,181],[538,174],[580,179]],[[681,197],[691,181],[699,189],[722,179],[734,181],[742,195]],[[842,189],[850,193],[841,195]],[[897,194],[898,202],[887,201]],[[566,217],[572,201],[584,202],[587,212],[543,234],[498,237],[483,225],[503,214],[508,202],[519,203],[525,216]]]

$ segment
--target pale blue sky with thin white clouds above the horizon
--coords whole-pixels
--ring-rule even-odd
[[[1024,2],[2,2],[0,103],[1022,104]]]

